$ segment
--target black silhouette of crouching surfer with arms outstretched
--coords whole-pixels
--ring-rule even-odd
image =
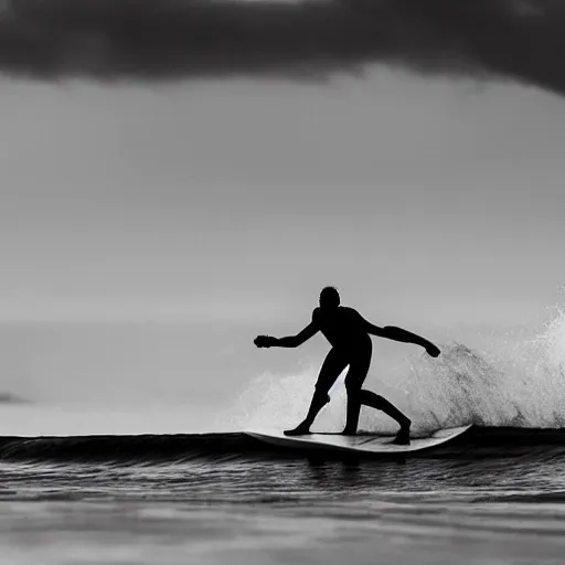
[[[328,394],[330,388],[349,366],[345,376],[347,423],[342,434],[356,434],[361,406],[364,405],[384,412],[399,424],[401,429],[394,439],[395,444],[409,444],[412,420],[383,396],[362,388],[371,365],[373,350],[371,335],[415,343],[423,347],[433,358],[439,355],[439,349],[426,339],[401,328],[373,326],[353,308],[340,306],[340,295],[333,287],[326,287],[320,292],[320,306],[313,310],[312,321],[297,335],[287,338],[258,335],[254,343],[257,348],[298,348],[318,332],[324,335],[332,349],[320,369],[306,418],[296,428],[285,430],[285,435],[300,436],[310,433],[310,426],[316,416],[330,402]]]

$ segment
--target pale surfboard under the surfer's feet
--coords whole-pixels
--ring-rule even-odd
[[[246,431],[248,436],[269,444],[271,446],[300,449],[300,450],[327,450],[344,451],[350,454],[413,454],[424,449],[440,446],[467,431],[471,426],[459,426],[434,431],[425,438],[411,439],[407,446],[392,444],[391,436],[356,435],[342,436],[340,434],[308,434],[305,436],[285,436],[278,430]]]

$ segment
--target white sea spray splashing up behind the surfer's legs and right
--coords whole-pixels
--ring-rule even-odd
[[[565,426],[565,309],[555,309],[541,329],[466,329],[457,341],[439,342],[441,355],[414,349],[383,367],[374,355],[365,386],[383,394],[414,422],[416,435],[440,427]],[[321,360],[320,360],[321,362]],[[243,428],[286,427],[305,416],[318,365],[292,375],[262,374],[241,395],[234,418]],[[339,430],[347,395],[343,373],[330,392],[331,403],[313,430]],[[363,408],[360,428],[393,433],[397,425],[382,413]]]

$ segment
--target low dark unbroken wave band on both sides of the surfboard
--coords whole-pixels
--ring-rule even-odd
[[[294,452],[288,448],[268,446],[245,433],[0,438],[2,462],[175,465],[305,456],[303,451]],[[414,456],[461,460],[563,457],[565,428],[472,427],[444,446]],[[316,457],[342,459],[344,455],[328,451],[317,452]]]

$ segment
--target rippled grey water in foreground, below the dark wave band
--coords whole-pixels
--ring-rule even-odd
[[[562,563],[561,460],[3,463],[3,562]]]

